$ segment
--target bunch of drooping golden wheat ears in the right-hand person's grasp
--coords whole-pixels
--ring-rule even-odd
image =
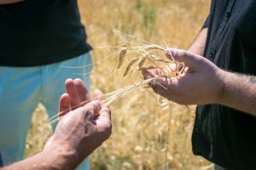
[[[125,56],[129,58],[127,55],[129,52],[132,53],[130,56],[133,56],[133,58],[126,59],[127,64],[125,65]],[[119,50],[117,69],[122,69],[122,65],[125,65],[123,77],[126,77],[133,71],[143,71],[152,68],[159,68],[165,74],[169,74],[170,77],[179,77],[184,70],[184,64],[177,62],[172,54],[170,54],[172,60],[166,60],[158,52],[166,53],[166,48],[154,44],[143,44],[137,47],[131,47],[129,44],[126,44],[125,48]]]

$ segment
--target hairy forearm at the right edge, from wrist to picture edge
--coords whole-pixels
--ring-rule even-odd
[[[223,71],[221,105],[256,116],[256,77]]]

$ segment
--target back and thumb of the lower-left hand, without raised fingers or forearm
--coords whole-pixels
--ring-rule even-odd
[[[82,161],[109,138],[111,134],[110,111],[101,103],[92,101],[70,111],[61,118],[55,128],[51,144],[44,150],[63,146]]]

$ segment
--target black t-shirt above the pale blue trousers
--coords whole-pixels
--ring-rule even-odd
[[[88,51],[77,0],[0,5],[0,65],[46,65]]]

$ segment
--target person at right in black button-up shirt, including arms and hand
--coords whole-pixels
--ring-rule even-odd
[[[198,105],[193,152],[219,168],[256,168],[255,49],[256,1],[212,0],[205,25],[189,50],[166,50],[167,57],[172,54],[185,63],[183,75],[150,83],[167,99]],[[149,78],[160,71],[143,74]]]

